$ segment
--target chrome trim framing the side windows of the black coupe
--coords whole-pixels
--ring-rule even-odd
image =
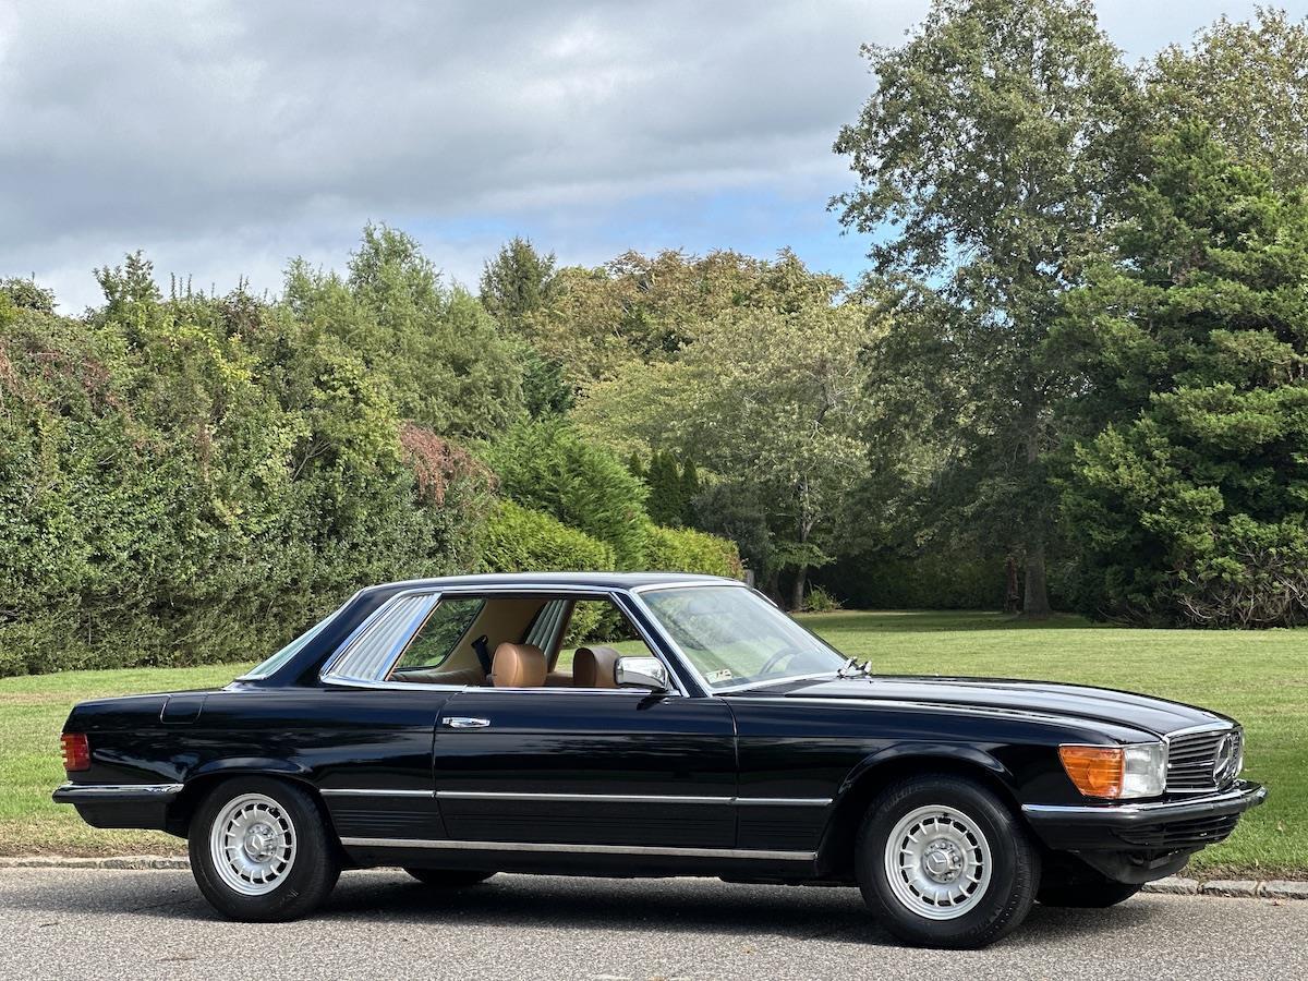
[[[725,581],[725,582],[732,582],[732,581]],[[684,585],[717,585],[717,583],[684,583]],[[496,594],[498,594],[498,595],[514,595],[514,594],[527,594],[527,595],[530,595],[532,593],[542,593],[542,594],[547,594],[547,595],[552,595],[555,598],[562,598],[562,599],[566,599],[569,596],[573,596],[573,598],[582,596],[582,598],[587,598],[587,599],[594,599],[594,598],[608,599],[611,603],[613,603],[613,606],[617,607],[617,610],[620,612],[623,612],[624,615],[627,615],[627,619],[630,621],[632,627],[636,629],[637,633],[640,633],[641,640],[645,642],[645,646],[649,647],[650,654],[653,657],[658,658],[663,663],[663,667],[667,668],[668,676],[672,679],[674,684],[676,685],[676,691],[675,692],[662,692],[662,695],[664,697],[678,697],[678,696],[679,697],[691,697],[691,692],[685,687],[684,678],[678,671],[675,671],[671,664],[668,664],[667,657],[659,649],[659,645],[655,641],[655,638],[650,634],[649,630],[645,629],[645,627],[642,624],[640,624],[634,617],[632,617],[629,615],[628,610],[625,608],[625,606],[623,603],[623,599],[625,599],[625,598],[634,599],[634,596],[632,596],[632,594],[630,594],[629,590],[617,590],[617,589],[612,589],[612,587],[608,587],[608,586],[557,585],[557,583],[540,583],[540,582],[522,582],[522,583],[514,583],[511,586],[502,586],[502,585],[501,586],[441,586],[441,587],[437,587],[437,586],[415,586],[413,589],[400,590],[395,595],[388,596],[385,603],[382,603],[377,610],[374,610],[353,630],[351,630],[349,636],[341,642],[340,647],[337,647],[337,650],[324,662],[323,668],[319,672],[318,678],[324,684],[339,684],[339,685],[345,685],[345,687],[349,687],[349,688],[379,688],[379,689],[391,689],[391,691],[396,691],[396,689],[399,689],[399,691],[463,691],[464,688],[471,688],[472,691],[480,691],[479,685],[462,685],[462,684],[460,685],[451,685],[451,684],[430,684],[430,683],[426,683],[426,681],[391,681],[391,680],[383,680],[394,670],[395,662],[399,661],[399,658],[403,655],[404,646],[402,646],[399,649],[399,651],[395,654],[395,657],[391,659],[390,664],[387,666],[386,671],[382,672],[382,675],[383,675],[382,679],[352,678],[349,675],[337,674],[336,668],[337,668],[337,664],[341,664],[341,662],[344,662],[345,659],[348,659],[348,657],[351,655],[351,653],[353,653],[354,646],[362,638],[362,636],[365,634],[365,632],[374,623],[377,623],[378,620],[381,620],[381,617],[386,616],[394,608],[394,606],[398,602],[400,602],[400,600],[403,600],[405,598],[415,596],[415,595],[434,595],[437,598],[437,606],[438,606],[439,602],[443,600],[445,596],[447,596],[447,595],[450,595],[450,596],[467,595],[467,594],[471,594],[471,595],[496,595]],[[644,607],[641,607],[641,608],[644,610],[645,615],[649,616],[649,611],[645,610]],[[434,607],[433,607],[433,610],[434,610]],[[650,617],[650,619],[651,619],[651,621],[654,621],[653,617]],[[657,621],[654,621],[654,623],[657,624]],[[685,661],[684,654],[680,654],[680,651],[676,649],[676,645],[671,644],[671,640],[668,637],[666,637],[664,634],[662,634],[662,633],[661,633],[661,637],[662,637],[663,642],[666,645],[668,645],[668,649],[676,651],[676,654],[680,657],[680,659],[683,662],[681,667],[685,671],[691,672],[691,678],[698,678],[698,672],[695,671],[695,667],[688,661]],[[409,640],[412,640],[412,634],[409,634]],[[623,693],[623,695],[633,693],[633,692],[634,693],[640,693],[640,689],[621,689],[621,688],[544,688],[544,687],[542,687],[542,688],[497,688],[497,689],[488,689],[488,691],[501,691],[501,692],[619,692],[619,693]]]

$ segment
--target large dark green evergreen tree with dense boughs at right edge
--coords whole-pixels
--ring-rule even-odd
[[[1202,124],[1158,140],[1117,262],[1056,337],[1100,426],[1063,489],[1079,600],[1205,627],[1308,621],[1308,196]]]

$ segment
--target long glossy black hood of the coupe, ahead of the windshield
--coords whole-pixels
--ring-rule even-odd
[[[820,679],[756,689],[753,695],[783,698],[849,698],[865,702],[951,705],[999,712],[1027,712],[1059,718],[1107,722],[1165,735],[1180,729],[1231,722],[1193,705],[1088,685],[1019,681],[1006,678],[886,676]]]

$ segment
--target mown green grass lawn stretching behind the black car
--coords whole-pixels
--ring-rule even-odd
[[[1223,845],[1192,862],[1203,878],[1308,878],[1308,629],[1133,630],[1076,617],[1024,624],[998,613],[820,613],[804,623],[886,674],[1078,681],[1226,712],[1248,732],[1247,774],[1271,787]],[[0,679],[0,854],[179,852],[149,832],[95,831],[50,791],[63,780],[59,730],[78,700],[226,684],[246,666],[71,671]]]

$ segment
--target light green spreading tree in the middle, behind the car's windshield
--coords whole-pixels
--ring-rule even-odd
[[[701,324],[676,361],[632,365],[595,385],[574,416],[583,432],[619,450],[668,447],[712,460],[723,480],[755,489],[752,497],[731,496],[732,510],[743,500],[763,509],[772,565],[756,570],[773,585],[778,570],[789,570],[790,602],[799,607],[808,569],[831,560],[828,532],[840,501],[866,472],[858,432],[871,334],[857,305],[736,310]],[[681,483],[675,462],[671,471]],[[697,504],[702,510],[702,496]],[[712,519],[697,523],[726,531]]]

